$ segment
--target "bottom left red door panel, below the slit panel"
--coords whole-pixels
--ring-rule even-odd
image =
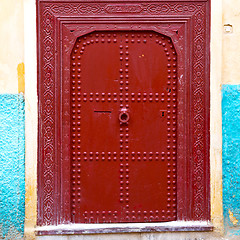
[[[115,160],[97,160],[96,157],[81,163],[80,174],[81,206],[77,214],[81,218],[84,210],[92,212],[92,217],[98,221],[97,212],[114,211],[118,209],[119,201],[119,163]],[[85,219],[84,215],[84,220]],[[102,215],[103,217],[103,215]],[[111,216],[112,217],[112,216]],[[103,220],[103,219],[102,219]],[[87,220],[89,221],[89,219]]]

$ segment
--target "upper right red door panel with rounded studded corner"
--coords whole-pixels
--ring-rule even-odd
[[[167,65],[171,65],[171,59],[168,58],[173,52],[171,40],[147,32],[126,34],[124,38],[127,41],[126,53],[129,53],[126,58],[129,63],[129,91],[148,94],[165,92]]]

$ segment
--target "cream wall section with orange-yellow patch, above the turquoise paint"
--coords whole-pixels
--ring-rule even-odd
[[[18,93],[18,74],[24,91],[23,14],[23,0],[0,0],[0,93]]]

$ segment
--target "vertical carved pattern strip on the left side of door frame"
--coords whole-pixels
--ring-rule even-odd
[[[42,224],[50,225],[53,223],[53,210],[54,210],[54,39],[53,39],[53,15],[46,9],[43,12],[43,22],[41,28],[41,35],[43,37],[43,58],[42,58],[42,80],[41,85],[41,103],[42,103],[42,115],[41,115],[41,135],[42,144],[39,145],[39,150],[42,153],[43,169],[41,185],[43,191],[42,194],[42,210],[44,212],[42,216]],[[39,130],[40,130],[39,129]],[[39,165],[38,165],[39,166]],[[40,167],[40,166],[39,166]]]

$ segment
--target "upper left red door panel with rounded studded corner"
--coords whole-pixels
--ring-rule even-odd
[[[120,39],[117,34],[97,33],[91,36],[78,39],[72,54],[76,57],[73,63],[76,63],[76,70],[81,71],[76,75],[80,76],[82,93],[94,93],[96,98],[97,93],[105,93],[106,97],[107,93],[119,91]],[[102,96],[99,97],[102,100]]]

